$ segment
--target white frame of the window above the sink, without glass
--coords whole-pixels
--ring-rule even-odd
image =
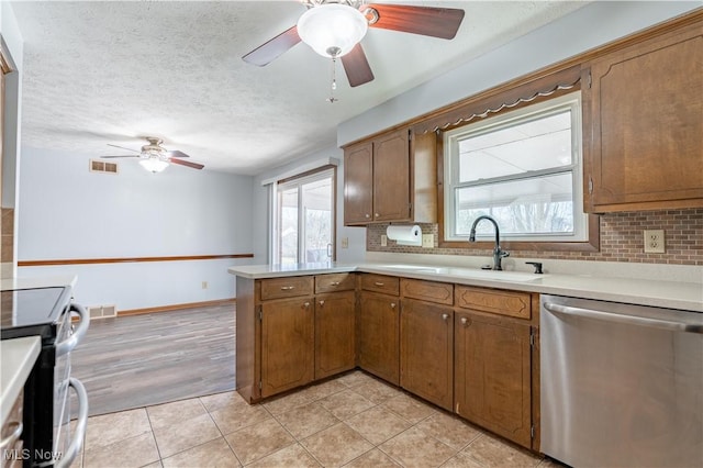
[[[526,120],[548,116],[563,110],[571,111],[571,164],[557,166],[554,168],[518,175],[495,177],[480,181],[459,182],[459,141],[479,134],[498,131]],[[527,105],[511,112],[486,118],[476,123],[462,125],[444,134],[444,159],[445,164],[445,212],[444,212],[444,239],[447,242],[466,242],[468,234],[456,234],[456,209],[457,192],[460,188],[487,186],[518,179],[537,178],[545,175],[556,175],[571,171],[572,196],[573,196],[573,234],[504,234],[501,232],[501,239],[514,242],[588,242],[589,241],[589,218],[583,213],[583,157],[582,157],[582,135],[581,135],[581,92],[577,91],[566,96],[550,99],[540,103]],[[477,233],[477,238],[481,241],[490,239],[494,234]]]

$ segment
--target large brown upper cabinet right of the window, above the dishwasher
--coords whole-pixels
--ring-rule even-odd
[[[585,211],[703,207],[701,21],[585,67]]]

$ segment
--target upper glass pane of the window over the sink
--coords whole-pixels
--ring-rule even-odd
[[[458,141],[459,183],[571,165],[571,111]]]

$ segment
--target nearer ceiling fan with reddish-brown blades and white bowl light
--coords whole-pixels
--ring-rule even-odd
[[[356,87],[373,80],[359,43],[368,27],[451,40],[464,20],[464,10],[454,8],[365,3],[362,0],[301,1],[308,10],[298,23],[243,56],[244,62],[265,66],[303,41],[324,57],[342,58],[349,86]]]

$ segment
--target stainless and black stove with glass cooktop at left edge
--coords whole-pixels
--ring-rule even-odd
[[[12,454],[24,467],[67,467],[80,450],[88,419],[83,386],[70,377],[70,352],[88,331],[85,309],[71,302],[70,287],[0,291],[0,338],[42,337],[42,350],[24,387],[22,441]],[[80,322],[74,327],[71,317]],[[79,401],[76,434],[70,437],[69,388]]]

